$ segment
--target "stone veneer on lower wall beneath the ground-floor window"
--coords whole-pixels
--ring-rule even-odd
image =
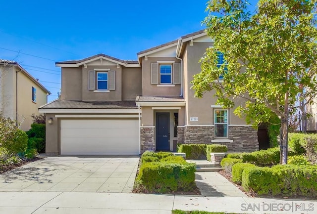
[[[228,146],[228,152],[253,152],[259,150],[258,131],[251,126],[229,126],[228,140],[216,142],[213,126],[185,126],[177,128],[177,143],[206,143]],[[213,140],[214,142],[211,142]],[[225,139],[224,139],[225,140]]]

